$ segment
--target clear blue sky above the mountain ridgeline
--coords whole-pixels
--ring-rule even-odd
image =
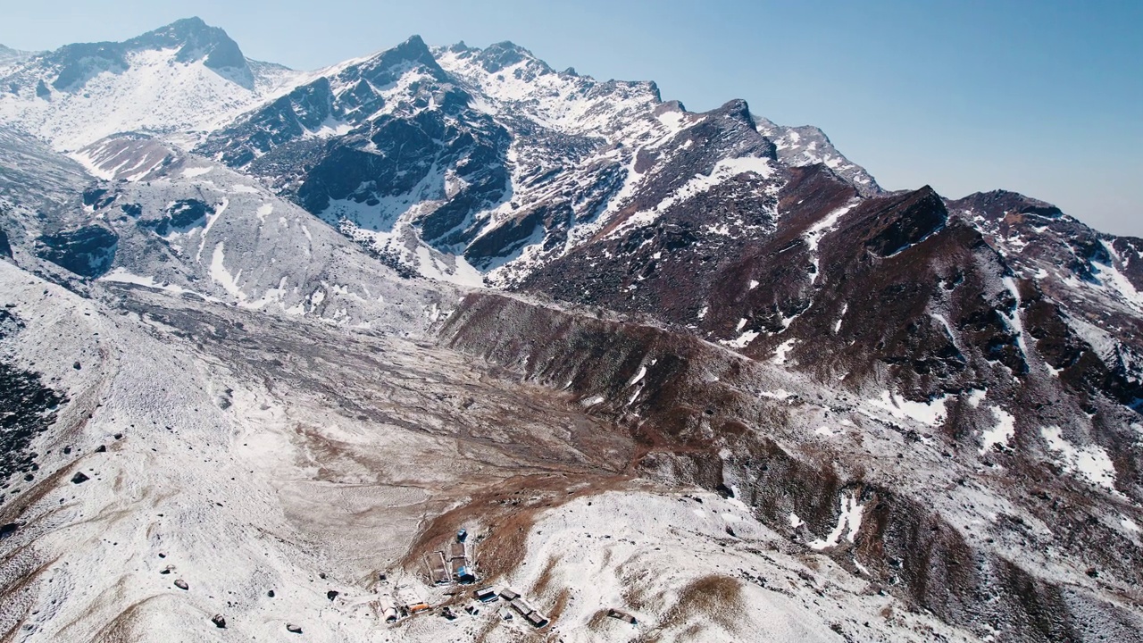
[[[0,42],[122,40],[198,15],[313,69],[418,33],[512,40],[557,69],[655,80],[821,127],[888,189],[1005,188],[1143,236],[1143,1],[0,0]]]

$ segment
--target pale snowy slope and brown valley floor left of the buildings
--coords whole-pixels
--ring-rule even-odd
[[[563,426],[593,421],[449,351],[129,284],[83,300],[6,262],[0,284],[26,324],[6,354],[71,399],[3,505],[26,503],[0,564],[21,640],[391,640],[371,589],[426,515],[629,450],[581,451]]]

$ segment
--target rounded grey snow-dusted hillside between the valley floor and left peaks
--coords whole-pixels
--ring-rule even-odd
[[[114,181],[94,182],[40,217],[19,239],[22,256],[89,278],[398,334],[423,333],[455,299],[446,286],[402,279],[257,181],[153,138],[106,138],[77,157]]]

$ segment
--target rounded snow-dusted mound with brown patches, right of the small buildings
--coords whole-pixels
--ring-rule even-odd
[[[539,514],[525,564],[494,584],[520,592],[542,613],[559,610],[547,636],[560,641],[975,640],[902,610],[826,556],[791,548],[734,499],[648,483],[572,493]],[[479,606],[475,617],[456,610],[451,622],[411,619],[398,633],[426,641],[526,640],[531,628],[519,616],[499,618],[504,602]],[[609,609],[638,622],[608,618]]]

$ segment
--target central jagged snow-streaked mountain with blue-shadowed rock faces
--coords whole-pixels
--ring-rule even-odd
[[[411,38],[322,72],[198,151],[265,177],[413,270],[440,252],[496,285],[633,214],[632,224],[654,219],[663,204],[644,203],[642,192],[702,192],[688,185],[695,174],[713,185],[768,172],[768,161],[826,162],[863,195],[879,192],[820,132],[759,126],[735,105],[742,127],[700,158],[687,145],[709,142],[716,117],[664,103],[653,82],[557,72],[511,42],[431,50]],[[780,144],[760,144],[767,134]]]

